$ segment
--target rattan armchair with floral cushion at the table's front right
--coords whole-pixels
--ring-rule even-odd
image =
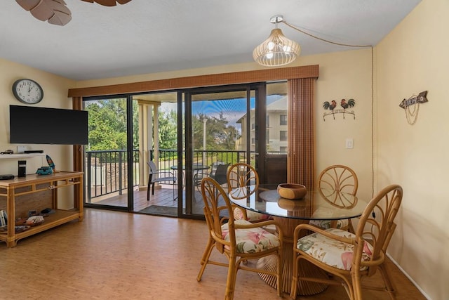
[[[378,193],[363,210],[356,233],[337,228],[322,229],[309,224],[295,228],[293,235],[293,280],[290,296],[297,293],[297,280],[343,285],[349,299],[362,299],[361,279],[380,271],[384,287],[368,287],[387,291],[395,299],[394,286],[385,266],[385,256],[396,224],[394,218],[401,206],[403,190],[389,185]],[[302,236],[302,230],[313,233]],[[309,261],[326,273],[329,279],[298,276],[300,261]]]

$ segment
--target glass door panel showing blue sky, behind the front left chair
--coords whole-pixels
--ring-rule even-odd
[[[185,164],[182,168],[187,184],[182,214],[203,214],[202,178],[210,176],[226,189],[227,167],[236,162],[257,166],[256,139],[260,136],[254,120],[258,103],[263,103],[260,98],[264,98],[264,84],[192,89],[184,93],[181,121],[185,124],[185,148],[180,162]]]

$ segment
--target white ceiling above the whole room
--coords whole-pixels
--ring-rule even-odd
[[[273,15],[344,44],[376,45],[420,0],[133,0],[114,7],[65,0],[65,26],[0,1],[0,58],[75,80],[253,62]],[[302,56],[344,51],[280,24]]]

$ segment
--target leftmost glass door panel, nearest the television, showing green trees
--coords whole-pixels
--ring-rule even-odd
[[[138,186],[138,155],[133,141],[138,128],[132,126],[137,110],[130,97],[90,98],[88,145],[85,148],[86,206],[129,211]]]

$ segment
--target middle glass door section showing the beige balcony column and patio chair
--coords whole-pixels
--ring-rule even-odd
[[[177,186],[182,185],[182,177],[177,178],[177,95],[170,91],[133,96],[139,111],[135,122],[139,126],[135,149],[140,155],[139,193],[134,193],[136,212],[178,216],[182,191],[178,195]]]

